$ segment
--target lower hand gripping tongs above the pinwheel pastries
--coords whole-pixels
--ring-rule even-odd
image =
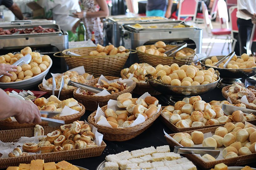
[[[14,115],[19,123],[40,123],[41,113],[39,112],[37,105],[30,101],[20,100],[20,105],[17,107],[17,114]]]

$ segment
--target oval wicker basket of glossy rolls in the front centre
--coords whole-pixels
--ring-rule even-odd
[[[103,106],[101,109],[104,112],[107,109],[107,106]],[[96,124],[94,119],[96,111],[91,113],[91,115],[88,117],[88,122],[96,128],[98,128],[98,131],[104,135],[103,138],[105,140],[126,141],[135,138],[136,136],[140,135],[143,131],[145,131],[147,128],[149,128],[154,123],[155,119],[160,115],[160,113],[161,109],[158,113],[147,119],[145,122],[133,127],[126,128],[113,128]]]

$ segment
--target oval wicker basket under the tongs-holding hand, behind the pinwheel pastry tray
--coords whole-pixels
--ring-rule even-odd
[[[81,116],[84,115],[85,113],[85,107],[81,104],[78,103],[80,106],[82,106],[82,111],[76,114],[68,115],[68,116],[61,116],[61,117],[52,117],[53,119],[58,119],[58,120],[64,120],[66,124],[72,123],[76,120],[79,120]],[[27,128],[27,127],[35,127],[36,125],[41,125],[41,126],[48,126],[47,122],[42,121],[41,123],[18,123],[18,122],[10,122],[10,121],[5,121],[5,120],[0,120],[0,129],[1,130],[8,130],[8,129],[21,129],[21,128]]]

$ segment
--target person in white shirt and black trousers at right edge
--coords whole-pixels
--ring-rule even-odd
[[[252,20],[256,19],[256,0],[237,0],[237,25],[240,55],[246,52],[246,43],[253,28]]]

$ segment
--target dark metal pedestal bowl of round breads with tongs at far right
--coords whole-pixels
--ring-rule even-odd
[[[210,57],[204,57],[202,58],[199,62],[202,66],[206,67],[206,68],[211,68],[210,66],[206,66],[204,64],[204,61],[206,59],[210,59],[212,56]],[[221,58],[225,57],[225,56],[216,56],[218,58],[218,60],[220,60]],[[237,58],[241,58],[240,56],[237,56]],[[214,67],[212,67],[214,68]],[[214,70],[218,70],[219,71],[219,76],[220,76],[220,81],[218,84],[218,87],[222,88],[224,86],[228,86],[228,85],[232,85],[235,82],[240,82],[241,81],[239,79],[242,78],[248,78],[250,76],[254,76],[256,74],[256,67],[255,68],[244,68],[244,69],[228,69],[228,68],[214,68]]]

